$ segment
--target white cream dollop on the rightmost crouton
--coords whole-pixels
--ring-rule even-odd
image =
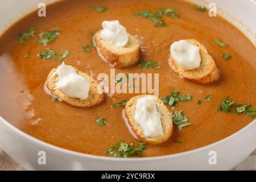
[[[200,67],[201,56],[200,48],[188,43],[186,40],[179,40],[171,45],[172,59],[185,70]]]

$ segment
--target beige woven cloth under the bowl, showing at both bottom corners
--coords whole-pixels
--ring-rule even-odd
[[[256,150],[233,170],[256,171]],[[4,151],[1,151],[0,171],[26,171],[26,169],[16,163],[13,159],[11,159]]]

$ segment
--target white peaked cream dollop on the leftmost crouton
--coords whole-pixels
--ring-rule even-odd
[[[89,96],[90,82],[84,77],[77,74],[77,71],[65,65],[63,62],[52,76],[58,75],[59,81],[56,83],[54,90],[60,90],[69,97],[86,100]]]

